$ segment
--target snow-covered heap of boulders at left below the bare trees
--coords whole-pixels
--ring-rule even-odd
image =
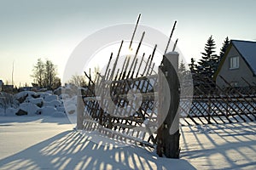
[[[7,100],[8,98],[9,103],[0,100],[0,116],[16,116],[16,113],[19,111],[26,111],[24,113],[26,116],[37,116],[41,114],[45,116],[67,116],[63,100],[51,91],[38,93],[23,91],[14,96],[10,94],[2,95],[3,99]],[[61,95],[67,96],[67,94]],[[69,99],[69,97],[67,99]],[[72,108],[72,112],[75,112],[76,100],[74,101],[73,99],[76,98],[69,99],[72,101],[70,107]]]

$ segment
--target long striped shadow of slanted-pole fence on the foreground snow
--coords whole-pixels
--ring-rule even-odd
[[[188,161],[160,158],[138,146],[92,142],[94,136],[60,133],[0,160],[0,169],[195,169]]]

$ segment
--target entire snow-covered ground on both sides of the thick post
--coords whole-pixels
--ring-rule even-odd
[[[181,127],[179,160],[104,141],[74,131],[67,117],[0,116],[0,169],[256,168],[256,122]]]

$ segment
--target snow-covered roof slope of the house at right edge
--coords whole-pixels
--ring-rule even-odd
[[[231,43],[246,61],[253,74],[256,75],[256,42],[231,40]]]

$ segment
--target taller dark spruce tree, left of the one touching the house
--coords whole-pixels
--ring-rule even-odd
[[[212,77],[217,66],[218,66],[218,55],[215,54],[215,42],[211,37],[208,38],[207,44],[205,46],[205,52],[201,53],[202,57],[198,62],[197,70],[199,74]]]

